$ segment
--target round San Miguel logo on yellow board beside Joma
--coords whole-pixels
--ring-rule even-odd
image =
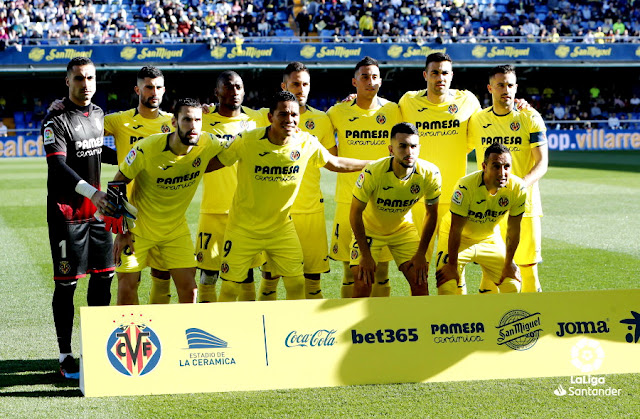
[[[516,351],[526,351],[540,338],[542,327],[540,313],[530,314],[524,310],[511,310],[500,319],[498,345],[507,345]]]

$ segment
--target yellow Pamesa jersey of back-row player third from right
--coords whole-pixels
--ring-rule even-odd
[[[362,109],[356,100],[333,105],[327,115],[337,133],[338,156],[377,160],[389,155],[391,128],[402,122],[394,102],[377,98],[375,109]],[[338,173],[336,202],[351,204],[358,173]]]

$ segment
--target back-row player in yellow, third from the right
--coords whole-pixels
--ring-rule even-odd
[[[378,61],[363,58],[355,67],[351,83],[356,88],[357,97],[332,106],[327,115],[331,119],[338,137],[338,156],[379,159],[389,155],[391,128],[400,122],[398,105],[378,96],[382,86]],[[336,185],[336,214],[333,221],[330,257],[344,263],[344,279],[341,288],[343,298],[353,296],[353,275],[349,268],[351,246],[351,208],[353,185],[357,173],[340,173]],[[376,269],[372,296],[388,296],[389,261],[392,256],[388,249],[380,254]]]

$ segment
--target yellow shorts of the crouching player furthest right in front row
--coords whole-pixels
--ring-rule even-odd
[[[449,259],[449,232],[440,232],[438,238],[438,249],[436,251],[436,272],[439,271]],[[495,234],[481,242],[465,239],[460,241],[458,250],[458,272],[462,277],[464,267],[469,262],[475,262],[482,268],[482,281],[480,289],[496,289],[496,284],[500,282],[502,269],[504,268],[504,258],[506,246],[502,237]]]

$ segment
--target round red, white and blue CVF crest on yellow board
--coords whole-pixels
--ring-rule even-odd
[[[107,358],[111,366],[129,377],[153,371],[161,355],[158,335],[142,319],[132,318],[128,322],[123,319],[107,340]]]

